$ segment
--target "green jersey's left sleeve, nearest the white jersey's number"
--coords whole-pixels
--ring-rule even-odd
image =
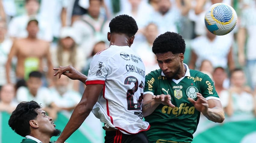
[[[145,77],[145,88],[143,94],[151,94],[155,95],[155,91],[157,89],[157,83],[156,80],[158,78],[156,77],[154,72],[150,72]]]

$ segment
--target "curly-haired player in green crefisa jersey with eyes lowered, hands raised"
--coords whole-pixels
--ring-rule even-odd
[[[224,112],[211,78],[183,63],[182,36],[166,32],[152,47],[160,67],[146,76],[142,102],[150,143],[190,143],[200,112],[214,122],[223,122]]]

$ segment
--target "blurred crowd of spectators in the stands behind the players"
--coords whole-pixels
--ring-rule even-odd
[[[236,28],[224,36],[204,25],[205,10],[219,2],[238,15]],[[85,86],[54,77],[52,68],[72,65],[87,75],[93,55],[109,46],[109,21],[120,14],[137,22],[131,48],[147,73],[159,69],[151,51],[155,38],[180,33],[184,63],[214,80],[226,115],[256,115],[255,0],[0,0],[0,110],[12,112],[30,100],[53,118],[74,109]]]

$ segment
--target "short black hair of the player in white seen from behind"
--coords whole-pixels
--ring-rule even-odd
[[[136,21],[128,15],[119,15],[109,23],[110,33],[126,34],[132,37],[138,31]]]

